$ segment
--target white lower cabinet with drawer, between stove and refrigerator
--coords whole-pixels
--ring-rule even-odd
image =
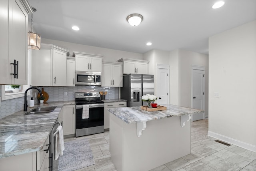
[[[104,103],[104,129],[108,129],[109,128],[109,115],[110,115],[110,112],[108,111],[108,109],[112,108],[112,107],[126,107],[126,101]]]

